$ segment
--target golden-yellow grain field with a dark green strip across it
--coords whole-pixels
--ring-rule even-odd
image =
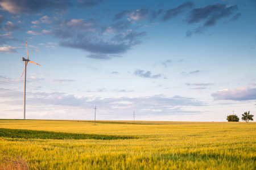
[[[0,169],[255,169],[256,123],[0,120]],[[20,130],[23,129],[23,130]]]

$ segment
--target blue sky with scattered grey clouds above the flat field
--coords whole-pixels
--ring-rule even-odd
[[[254,0],[0,0],[0,118],[23,118],[26,37],[41,65],[27,65],[27,119],[242,121],[255,16]]]

